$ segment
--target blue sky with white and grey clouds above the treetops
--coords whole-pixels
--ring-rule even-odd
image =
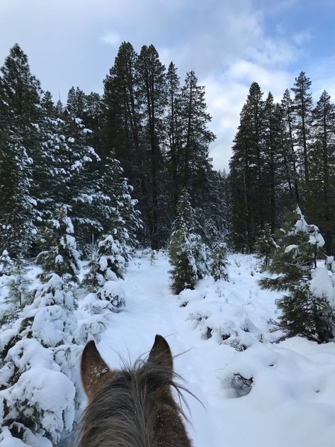
[[[205,86],[215,169],[227,169],[251,82],[276,100],[305,71],[335,97],[334,0],[0,0],[0,65],[18,43],[57,100],[103,91],[118,46],[153,44]]]

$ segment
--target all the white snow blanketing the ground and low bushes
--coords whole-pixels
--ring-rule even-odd
[[[47,336],[45,327],[52,324],[47,344],[55,346],[58,336],[74,331],[78,346],[69,339],[49,348],[36,339],[18,341],[9,349],[7,361],[25,370],[16,387],[0,395],[15,388],[11,399],[22,410],[24,397],[40,402],[40,423],[57,442],[59,431],[71,429],[86,403],[79,383],[79,358],[86,341],[94,339],[109,366],[120,368],[121,358],[134,361],[146,356],[154,336],[161,334],[171,346],[183,385],[203,404],[185,394],[194,447],[333,447],[335,343],[318,345],[300,337],[276,343],[280,334],[271,332],[268,320],[278,318],[276,300],[281,295],[259,288],[257,281],[265,276],[260,261],[251,255],[229,254],[229,282],[207,276],[195,290],[176,296],[170,289],[166,254],[144,253],[139,251],[130,261],[124,280],[104,283],[106,299],[79,291],[79,307],[72,311],[75,330],[58,332],[57,324],[67,322],[69,315],[61,315],[65,310],[57,299],[52,306],[47,302],[45,307],[32,305],[38,339]],[[331,264],[334,259],[328,261]],[[81,268],[81,276],[84,271]],[[330,271],[318,267],[312,272],[310,288],[315,295],[334,297],[333,287]],[[125,307],[113,312],[108,296],[122,297]],[[43,308],[48,315],[40,313],[37,319],[36,312]],[[15,333],[15,328],[3,332],[3,343]],[[6,383],[6,371],[1,370],[1,375],[0,382]],[[29,413],[31,408],[24,411]],[[22,443],[4,427],[0,447],[51,446],[41,436],[26,436]],[[30,442],[28,436],[33,436]],[[59,444],[65,445],[74,442],[67,438]]]

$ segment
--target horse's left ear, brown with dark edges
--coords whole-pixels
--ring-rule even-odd
[[[89,399],[93,399],[98,389],[108,378],[110,369],[101,357],[93,340],[84,347],[80,362],[81,382]]]

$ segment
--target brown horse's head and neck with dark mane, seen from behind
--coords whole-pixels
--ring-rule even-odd
[[[81,356],[81,380],[89,400],[81,419],[79,447],[191,447],[181,407],[185,390],[174,381],[167,341],[157,335],[146,362],[110,370],[93,341]]]

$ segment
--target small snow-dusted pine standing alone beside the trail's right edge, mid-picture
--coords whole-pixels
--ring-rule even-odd
[[[200,236],[195,233],[195,228],[195,213],[191,207],[190,195],[184,189],[177,204],[177,216],[169,245],[171,288],[176,294],[186,288],[193,289],[198,281],[195,244],[200,243]]]

